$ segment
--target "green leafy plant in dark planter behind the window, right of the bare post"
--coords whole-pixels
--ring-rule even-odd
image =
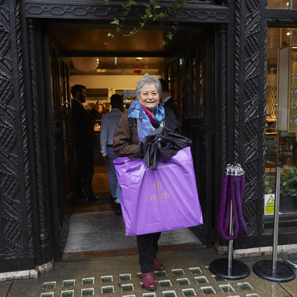
[[[297,167],[290,166],[281,170],[279,194],[280,212],[297,212]]]

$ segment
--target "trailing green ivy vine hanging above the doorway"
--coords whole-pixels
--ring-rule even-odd
[[[110,0],[104,0],[105,4],[110,3]],[[161,6],[158,5],[158,2],[160,2],[161,0],[148,0],[148,3],[143,3],[145,6],[145,11],[144,11],[144,15],[140,16],[141,21],[139,22],[140,26],[139,28],[134,28],[133,30],[130,31],[130,34],[123,34],[124,36],[131,36],[133,34],[135,34],[136,32],[138,32],[140,29],[142,29],[145,25],[145,22],[148,19],[151,19],[153,21],[157,20],[157,19],[166,19],[168,17],[168,14],[171,12],[171,10],[173,9],[178,9],[178,8],[184,8],[186,5],[186,0],[175,0],[170,7],[166,7],[166,10],[161,10],[160,8]],[[114,38],[118,35],[118,33],[122,30],[123,24],[126,20],[126,17],[131,9],[131,6],[136,6],[137,3],[134,0],[127,0],[126,4],[122,3],[123,8],[125,9],[125,11],[123,12],[123,17],[120,18],[120,20],[114,18],[114,20],[112,22],[110,22],[110,24],[114,24],[115,25],[115,29],[116,29],[116,34],[111,34],[108,33],[107,36],[112,37],[111,40],[106,44],[109,44],[111,41],[114,40]],[[177,15],[175,15],[175,17],[177,19],[180,18],[180,15],[182,15],[182,11],[179,11]],[[120,24],[121,23],[121,24]],[[168,39],[162,40],[162,44],[160,45],[160,47],[165,46],[166,44],[168,44],[168,42],[172,39],[172,37],[174,36],[174,33],[176,32],[177,28],[179,26],[178,22],[174,22],[172,25],[173,28],[173,33],[168,31],[167,32],[167,37]],[[156,49],[156,48],[155,48]],[[150,49],[150,50],[154,50],[154,49]]]

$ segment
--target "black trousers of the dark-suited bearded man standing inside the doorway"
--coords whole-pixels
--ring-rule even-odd
[[[92,179],[94,175],[94,146],[76,147],[76,163],[74,171],[75,192],[78,198],[92,199]]]

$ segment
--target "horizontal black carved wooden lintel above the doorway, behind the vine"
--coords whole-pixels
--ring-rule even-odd
[[[216,3],[219,2],[217,5]],[[193,20],[203,22],[228,22],[229,9],[224,5],[226,1],[189,1],[184,9],[180,21]],[[122,2],[110,1],[106,4],[104,1],[98,1],[96,5],[88,1],[72,1],[63,4],[58,1],[25,1],[26,17],[39,18],[79,18],[79,19],[113,19],[123,15]],[[167,7],[168,2],[160,2],[161,7]],[[132,7],[127,15],[127,19],[139,19],[144,13],[144,9]],[[177,11],[172,10],[168,20],[176,21]]]

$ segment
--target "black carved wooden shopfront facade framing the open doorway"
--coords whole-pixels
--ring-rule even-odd
[[[168,6],[161,2],[160,6]],[[250,236],[235,248],[271,245],[264,230],[266,34],[268,26],[296,26],[291,11],[269,10],[267,0],[188,1],[181,22],[218,28],[213,197],[218,201],[226,164],[238,161],[246,172],[243,214]],[[39,19],[113,19],[121,1],[0,0],[0,272],[32,269],[53,259],[47,131],[40,89]],[[129,19],[142,11],[133,8]],[[169,16],[175,20],[174,11]],[[213,226],[216,230],[216,226]],[[215,241],[225,244],[215,234]],[[279,235],[279,244],[297,234]]]

